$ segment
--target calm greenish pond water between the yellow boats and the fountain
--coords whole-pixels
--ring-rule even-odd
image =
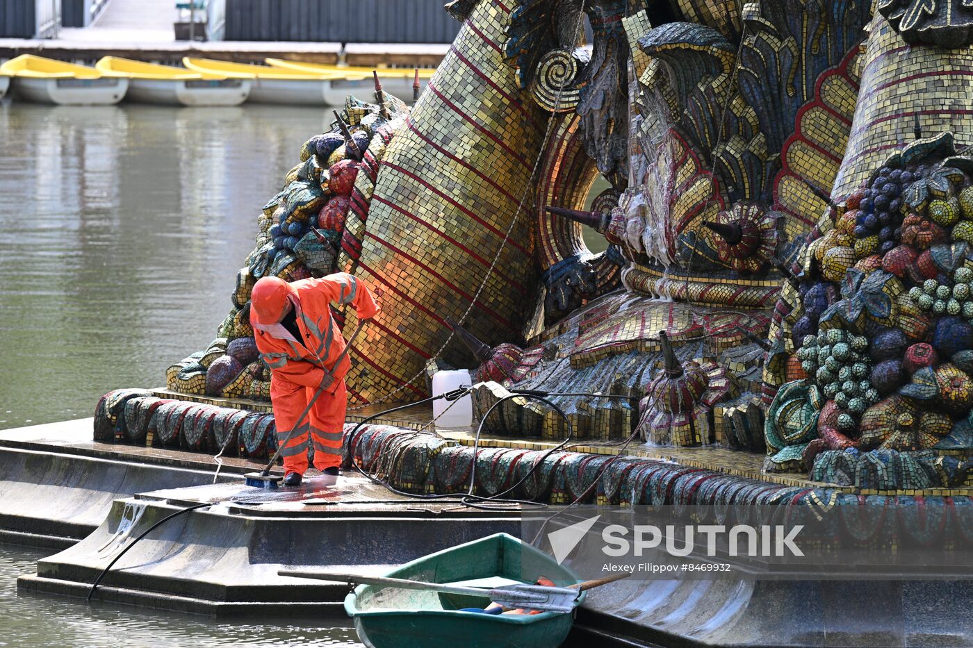
[[[313,108],[0,102],[0,429],[157,386],[226,316]]]

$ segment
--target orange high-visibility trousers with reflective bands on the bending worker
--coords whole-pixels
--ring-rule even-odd
[[[347,395],[344,391],[344,378],[336,380],[336,383],[334,392],[321,390],[310,412],[301,422],[301,427],[291,435],[287,445],[280,451],[285,472],[305,474],[307,449],[311,445],[314,448],[315,468],[324,470],[341,466]],[[298,418],[304,413],[307,402],[314,397],[314,392],[314,387],[280,378],[276,372],[271,375],[270,398],[273,402],[273,422],[277,430],[278,445],[283,445],[287,433],[298,424]]]

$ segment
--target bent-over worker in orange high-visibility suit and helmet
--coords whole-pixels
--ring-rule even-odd
[[[270,400],[277,443],[301,424],[280,454],[284,485],[299,486],[307,470],[308,432],[314,467],[338,475],[342,463],[342,430],[347,406],[344,376],[351,367],[341,357],[344,338],[331,316],[331,303],[353,305],[359,321],[376,312],[375,298],[365,282],[339,272],[319,279],[287,283],[277,277],[257,281],[250,294],[250,323],[261,357],[270,366]],[[322,390],[305,420],[309,399]]]

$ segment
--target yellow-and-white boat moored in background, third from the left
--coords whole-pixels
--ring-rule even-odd
[[[200,73],[244,75],[252,79],[249,100],[255,103],[342,106],[347,91],[335,90],[334,82],[342,82],[349,78],[359,83],[368,80],[365,74],[302,72],[268,65],[248,65],[194,56],[184,57],[183,65]],[[339,83],[339,86],[341,85]]]

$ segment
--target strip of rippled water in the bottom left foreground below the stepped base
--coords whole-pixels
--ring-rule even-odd
[[[18,597],[18,575],[44,556],[0,545],[0,646],[361,646],[353,629],[314,619],[217,621],[80,598]]]

